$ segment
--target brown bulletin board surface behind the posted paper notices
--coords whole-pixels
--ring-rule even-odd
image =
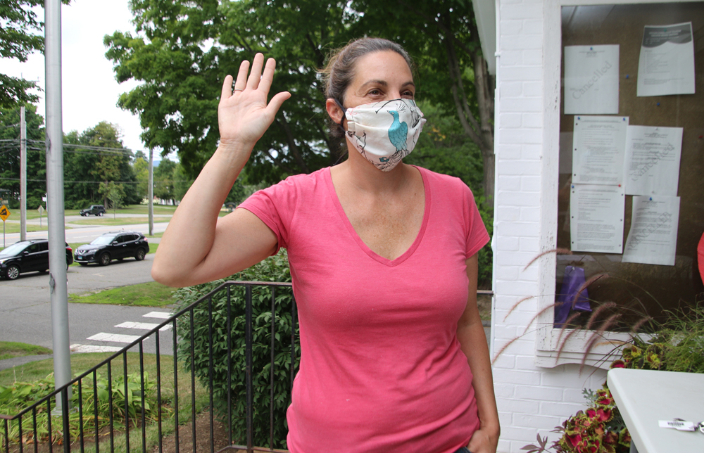
[[[637,96],[644,27],[689,22],[693,34],[695,93]],[[614,104],[617,111],[609,115],[627,117],[631,126],[683,129],[674,265],[624,262],[623,253],[618,251],[574,250],[570,229],[570,200],[574,197],[570,196],[570,191],[574,188],[572,142],[577,114],[565,114],[565,47],[615,44],[619,53],[618,99]],[[704,234],[704,2],[562,7],[562,87],[557,246],[572,253],[558,253],[556,300],[560,297],[576,300],[568,294],[567,288],[570,284],[574,286],[575,269],[584,272],[580,277],[583,281],[604,275],[589,285],[586,300],[582,300],[586,307],[584,304],[582,307],[596,310],[599,305],[614,302],[617,308],[605,310],[603,316],[617,311],[623,316],[610,330],[627,331],[646,314],[658,319],[668,310],[686,310],[698,300],[704,300],[704,284],[697,262],[697,245]],[[623,205],[625,245],[631,231],[634,196],[625,195]],[[577,313],[570,312],[574,314],[570,324],[584,326],[591,312]]]

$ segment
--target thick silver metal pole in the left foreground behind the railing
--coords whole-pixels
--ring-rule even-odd
[[[63,119],[61,117],[61,0],[44,0],[46,80],[46,207],[49,223],[49,291],[54,340],[54,385],[71,380],[68,338],[65,222],[63,212]],[[70,389],[68,393],[70,401]],[[68,408],[64,408],[68,409]],[[61,397],[54,411],[61,414]]]

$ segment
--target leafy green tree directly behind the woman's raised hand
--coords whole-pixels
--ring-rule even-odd
[[[132,1],[139,36],[115,32],[105,39],[118,81],[144,82],[123,94],[120,106],[139,114],[146,146],[161,148],[162,155],[177,151],[189,178],[217,147],[222,79],[257,51],[277,59],[272,92],[289,90],[294,97],[257,143],[248,177],[255,183],[279,181],[337,159],[329,151],[335,146],[315,70],[324,63],[325,49],[351,37],[345,27],[333,25],[346,17],[344,4],[275,3]],[[209,46],[210,40],[215,44]]]

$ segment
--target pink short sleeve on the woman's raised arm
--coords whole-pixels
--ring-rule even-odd
[[[289,231],[291,218],[296,209],[298,199],[296,186],[292,179],[274,184],[260,191],[256,191],[244,200],[238,208],[246,209],[259,217],[276,235],[279,248],[287,248],[289,244]]]

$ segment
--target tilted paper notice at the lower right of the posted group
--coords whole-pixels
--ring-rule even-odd
[[[631,231],[621,262],[674,266],[679,197],[634,196]]]

